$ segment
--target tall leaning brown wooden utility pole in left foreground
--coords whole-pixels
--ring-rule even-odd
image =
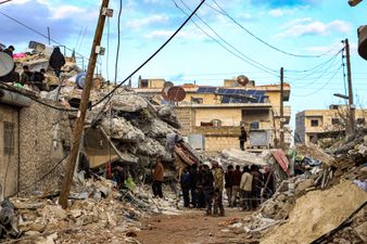
[[[106,9],[109,7],[109,1],[110,0],[103,0],[102,7],[101,7],[101,10],[100,10],[98,25],[97,25],[97,29],[96,29],[96,34],[94,34],[94,40],[93,40],[93,44],[92,44],[92,49],[91,49],[90,57],[89,57],[89,64],[88,64],[88,70],[87,70],[85,87],[84,87],[84,91],[83,91],[83,94],[81,94],[81,101],[80,101],[80,105],[79,105],[78,116],[77,116],[77,120],[76,120],[75,128],[74,128],[72,152],[71,152],[71,155],[68,157],[68,162],[67,162],[67,165],[66,165],[66,172],[65,172],[65,177],[64,177],[62,188],[61,188],[60,204],[64,209],[67,208],[67,198],[68,198],[68,194],[69,194],[69,191],[71,191],[74,169],[75,169],[75,165],[76,165],[76,158],[77,158],[78,151],[79,151],[79,142],[80,142],[80,138],[81,138],[81,134],[83,134],[83,131],[84,131],[84,124],[85,124],[85,118],[86,118],[86,113],[87,113],[87,106],[88,106],[88,102],[89,102],[92,78],[93,78],[97,57],[98,57],[98,50],[97,49],[98,49],[98,47],[100,47],[100,43],[101,43],[104,22],[105,22],[105,17],[106,17],[106,15],[104,15],[104,13],[106,12]]]

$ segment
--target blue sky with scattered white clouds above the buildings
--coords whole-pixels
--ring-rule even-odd
[[[186,13],[190,13],[199,3],[199,0],[175,1],[179,8],[173,0],[123,0],[118,80],[123,80],[150,56],[185,21]],[[13,0],[0,5],[0,12],[45,35],[47,27],[50,27],[53,39],[89,56],[100,2]],[[113,80],[119,1],[110,2],[114,17],[106,24],[102,40],[102,46],[107,47],[109,36],[110,51],[109,55],[100,59],[100,63],[104,76]],[[206,3],[198,13],[200,18],[193,18],[202,30],[189,22],[138,75],[165,78],[176,84],[195,81],[212,86],[220,86],[224,78],[245,75],[256,84],[265,85],[278,84],[278,70],[283,66],[286,80],[292,85],[290,104],[294,115],[303,110],[325,108],[331,103],[344,102],[332,95],[336,92],[344,93],[343,72],[339,69],[342,59],[334,54],[342,47],[341,40],[349,38],[355,100],[357,106],[366,107],[367,88],[364,85],[367,80],[367,61],[356,53],[356,29],[367,24],[366,1],[355,8],[350,8],[346,0],[207,0]],[[321,57],[286,55],[250,36],[219,13],[223,11],[283,51],[301,55],[331,51]],[[47,42],[43,37],[1,14],[0,26],[0,42],[14,44],[16,51],[23,51],[28,40]],[[249,64],[249,61],[245,62],[248,59],[252,60],[250,63],[255,61],[257,64]],[[313,67],[307,73],[296,72]],[[132,78],[132,84],[137,82],[138,75]]]

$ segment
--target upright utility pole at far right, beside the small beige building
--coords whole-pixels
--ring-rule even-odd
[[[349,91],[349,125],[346,131],[349,134],[354,134],[355,132],[355,107],[353,104],[353,88],[352,88],[352,70],[351,70],[351,53],[350,53],[350,42],[347,39],[344,40],[345,44],[345,57],[346,57],[346,78],[347,78],[347,91]]]

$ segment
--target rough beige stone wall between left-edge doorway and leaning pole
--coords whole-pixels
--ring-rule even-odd
[[[61,159],[72,144],[68,114],[33,102],[21,110],[20,118],[20,190],[27,193],[58,189],[63,171]]]

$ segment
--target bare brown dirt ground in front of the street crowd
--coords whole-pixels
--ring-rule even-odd
[[[225,217],[207,217],[204,210],[189,209],[179,216],[157,215],[143,219],[144,228],[136,237],[142,244],[227,244],[250,243],[242,232],[226,231],[222,223],[244,218],[251,213],[226,208]]]

